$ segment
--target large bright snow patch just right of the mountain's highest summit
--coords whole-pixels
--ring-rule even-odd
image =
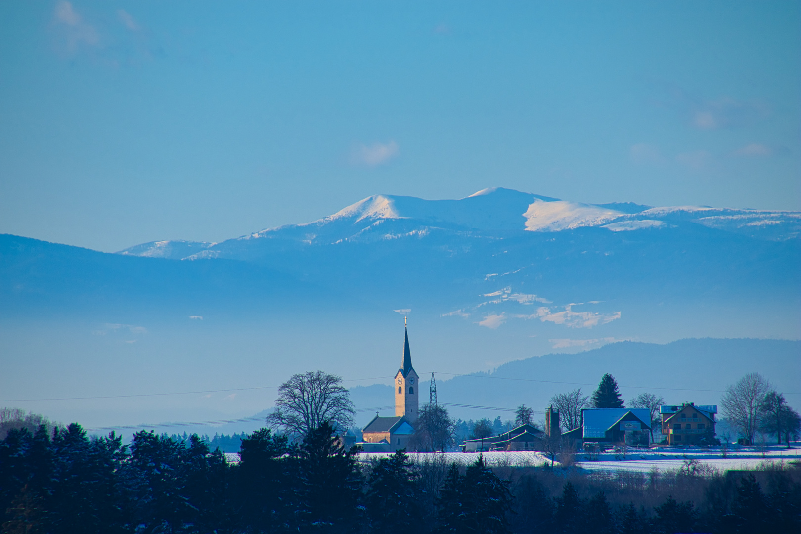
[[[557,200],[537,200],[529,205],[523,216],[528,231],[562,231],[579,227],[594,227],[608,223],[624,215],[622,211],[610,210],[592,204]]]

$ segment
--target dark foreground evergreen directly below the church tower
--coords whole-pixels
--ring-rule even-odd
[[[405,451],[382,458],[370,473],[367,512],[371,532],[408,534],[422,520],[417,475]]]

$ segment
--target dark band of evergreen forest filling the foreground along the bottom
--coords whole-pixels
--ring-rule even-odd
[[[78,424],[0,442],[2,532],[799,532],[799,468],[722,476],[364,463],[328,424],[267,429],[226,464],[198,436],[90,438]]]

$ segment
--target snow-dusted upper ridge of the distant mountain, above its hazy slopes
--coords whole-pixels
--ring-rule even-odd
[[[801,212],[586,204],[495,187],[458,200],[373,195],[311,223],[268,228],[221,243],[143,243],[119,253],[169,259],[248,260],[262,255],[265,241],[275,240],[284,246],[289,242],[311,246],[422,238],[432,231],[504,238],[523,231],[561,232],[587,227],[614,232],[666,231],[679,225],[700,225],[781,241],[799,236]]]

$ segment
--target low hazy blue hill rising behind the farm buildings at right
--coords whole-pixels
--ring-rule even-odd
[[[651,391],[664,396],[666,403],[719,404],[720,391],[702,390],[725,390],[728,384],[751,371],[762,373],[779,391],[785,392],[792,405],[801,408],[801,341],[777,339],[680,339],[664,345],[610,343],[578,354],[521,359],[489,373],[453,378],[441,374],[437,376],[437,396],[445,404],[497,408],[526,404],[542,412],[554,393],[581,387],[590,395],[601,376],[610,372],[618,380],[624,399]],[[421,385],[428,389],[427,381]],[[390,386],[355,387],[351,391],[357,408],[392,404]],[[462,419],[509,417],[505,412],[449,409]],[[389,412],[392,409],[382,415]],[[368,415],[375,414],[368,412]],[[369,419],[360,416],[360,420],[365,418]]]

